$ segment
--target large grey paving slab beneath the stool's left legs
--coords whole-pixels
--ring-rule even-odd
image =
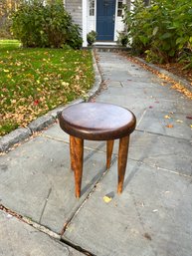
[[[35,137],[1,156],[0,166],[0,202],[60,232],[102,175],[105,155],[85,150],[80,200],[75,197],[69,144]]]

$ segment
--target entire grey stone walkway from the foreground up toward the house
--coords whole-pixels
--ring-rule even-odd
[[[86,141],[78,200],[69,137],[47,128],[0,158],[0,256],[192,255],[192,102],[116,53],[99,53],[99,67],[96,102],[137,118],[123,193],[118,141],[107,172],[105,143]]]

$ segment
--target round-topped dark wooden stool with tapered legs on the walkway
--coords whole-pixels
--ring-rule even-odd
[[[70,134],[71,167],[75,172],[76,197],[81,196],[84,139],[106,140],[106,168],[110,166],[114,139],[119,138],[118,186],[122,192],[129,134],[134,130],[134,115],[121,107],[104,103],[83,103],[68,107],[60,118],[60,127]]]

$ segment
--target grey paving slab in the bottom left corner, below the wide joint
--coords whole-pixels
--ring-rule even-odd
[[[81,256],[81,252],[0,210],[1,256]]]

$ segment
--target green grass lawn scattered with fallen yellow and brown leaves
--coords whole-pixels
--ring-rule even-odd
[[[89,51],[22,49],[0,40],[0,135],[86,96],[93,83]]]

